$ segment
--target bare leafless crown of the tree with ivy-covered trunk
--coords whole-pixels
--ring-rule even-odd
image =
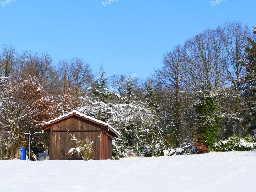
[[[188,39],[187,62],[188,82],[191,90],[203,98],[205,104],[206,92],[216,87],[220,81],[220,48],[219,30],[206,29],[204,32]]]

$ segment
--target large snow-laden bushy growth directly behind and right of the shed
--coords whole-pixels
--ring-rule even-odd
[[[89,97],[81,97],[81,104],[76,110],[88,116],[104,121],[113,126],[123,136],[123,141],[114,141],[113,158],[126,156],[129,150],[138,156],[152,143],[152,126],[154,126],[154,143],[156,154],[162,140],[161,133],[157,132],[154,124],[154,114],[145,103],[114,104],[93,101]],[[116,146],[115,146],[116,145]]]

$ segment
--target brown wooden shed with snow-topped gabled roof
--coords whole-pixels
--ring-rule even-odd
[[[112,159],[112,140],[122,138],[121,134],[109,124],[84,115],[76,110],[53,119],[43,125],[44,132],[50,133],[49,160],[79,159],[78,156],[66,155],[75,148],[76,139],[94,141],[90,159]]]

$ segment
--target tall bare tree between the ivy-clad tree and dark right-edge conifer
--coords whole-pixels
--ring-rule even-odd
[[[226,82],[230,82],[233,94],[229,94],[229,99],[235,101],[233,113],[236,115],[237,136],[242,136],[242,114],[241,114],[241,81],[245,68],[245,46],[247,45],[246,37],[249,36],[248,27],[242,26],[240,22],[226,23],[221,26],[222,48],[222,67],[223,76]]]

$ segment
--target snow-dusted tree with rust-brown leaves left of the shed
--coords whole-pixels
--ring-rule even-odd
[[[21,81],[22,83],[27,82]],[[18,147],[28,149],[29,131],[41,132],[40,124],[50,120],[55,114],[55,102],[52,96],[44,92],[43,87],[29,80],[29,84],[10,92],[0,94],[0,151],[1,159],[13,159]],[[7,86],[9,90],[17,86],[13,81]],[[31,141],[31,149],[35,153],[45,150],[40,143],[49,143],[49,134],[36,134]]]

